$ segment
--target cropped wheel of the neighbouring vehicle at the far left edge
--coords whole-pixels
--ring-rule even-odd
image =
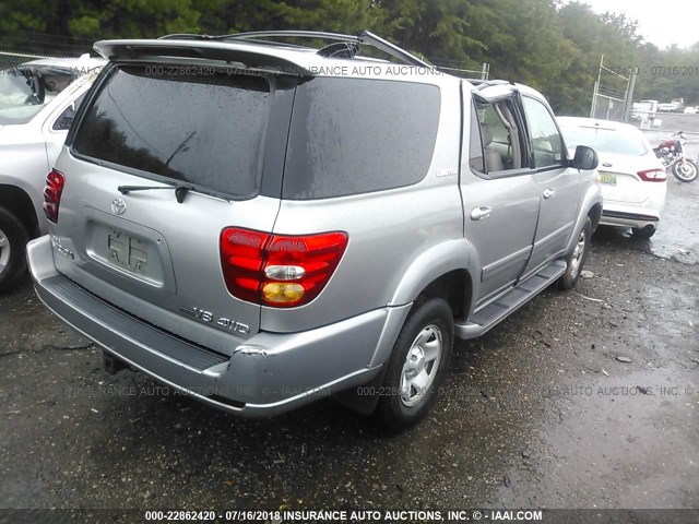
[[[20,284],[26,273],[26,242],[29,235],[20,219],[0,207],[0,293]]]

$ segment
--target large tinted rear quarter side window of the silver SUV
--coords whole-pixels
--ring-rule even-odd
[[[434,85],[318,78],[298,86],[284,174],[286,199],[410,186],[431,163],[440,93]]]

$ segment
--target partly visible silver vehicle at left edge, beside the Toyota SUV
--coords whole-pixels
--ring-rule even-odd
[[[47,233],[46,174],[105,63],[85,55],[0,70],[0,293],[26,273],[29,238]]]

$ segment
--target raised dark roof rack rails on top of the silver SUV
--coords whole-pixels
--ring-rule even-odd
[[[393,58],[401,60],[403,63],[407,66],[415,66],[418,68],[431,68],[430,64],[420,60],[414,55],[411,55],[405,49],[398,47],[394,44],[381,38],[380,36],[375,35],[366,29],[359,31],[356,35],[343,35],[340,33],[325,33],[320,31],[253,31],[249,33],[236,33],[233,35],[196,35],[189,33],[180,33],[174,35],[165,35],[162,36],[161,39],[173,39],[173,40],[257,40],[257,38],[322,38],[325,40],[339,40],[354,45],[369,45],[372,46],[387,55],[390,55]],[[266,44],[266,41],[265,41]],[[269,43],[272,45],[279,45],[276,43]],[[287,45],[287,44],[285,44]],[[340,50],[340,53],[336,51]],[[343,49],[337,47],[327,46],[318,51],[319,55],[322,56],[342,56],[344,58],[348,58],[350,56],[354,56],[356,50],[354,48],[347,46]]]

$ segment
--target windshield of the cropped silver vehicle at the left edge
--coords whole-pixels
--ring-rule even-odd
[[[28,122],[75,78],[74,71],[47,66],[0,70],[0,126]]]

